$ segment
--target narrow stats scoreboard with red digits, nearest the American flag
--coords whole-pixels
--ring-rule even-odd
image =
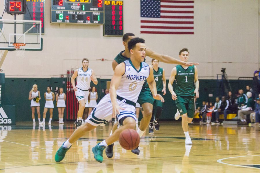
[[[104,1],[104,36],[123,36],[123,1]]]

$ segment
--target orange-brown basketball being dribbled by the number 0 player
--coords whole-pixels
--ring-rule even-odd
[[[125,129],[119,136],[119,143],[126,150],[133,150],[140,143],[139,134],[133,129]]]

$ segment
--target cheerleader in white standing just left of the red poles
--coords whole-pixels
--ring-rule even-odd
[[[64,115],[64,109],[66,108],[65,100],[66,100],[66,94],[63,93],[63,88],[59,88],[59,91],[56,94],[56,101],[57,101],[57,108],[59,112],[60,124],[64,124],[63,115]]]

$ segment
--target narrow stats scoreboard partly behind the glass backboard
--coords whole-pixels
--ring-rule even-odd
[[[41,20],[42,34],[44,33],[44,7],[46,0],[26,0],[27,12],[24,14],[24,20]],[[24,30],[30,29],[30,25],[24,25]],[[37,29],[33,28],[28,33],[37,33]]]

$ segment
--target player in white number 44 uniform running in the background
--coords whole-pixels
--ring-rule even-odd
[[[88,93],[90,82],[96,85],[98,83],[94,70],[88,67],[89,61],[87,58],[82,59],[82,67],[77,69],[71,77],[71,84],[75,95],[79,102],[79,111],[77,121],[75,121],[76,129],[82,124],[82,116],[86,103],[88,102]],[[77,86],[75,86],[75,78],[77,78]]]

